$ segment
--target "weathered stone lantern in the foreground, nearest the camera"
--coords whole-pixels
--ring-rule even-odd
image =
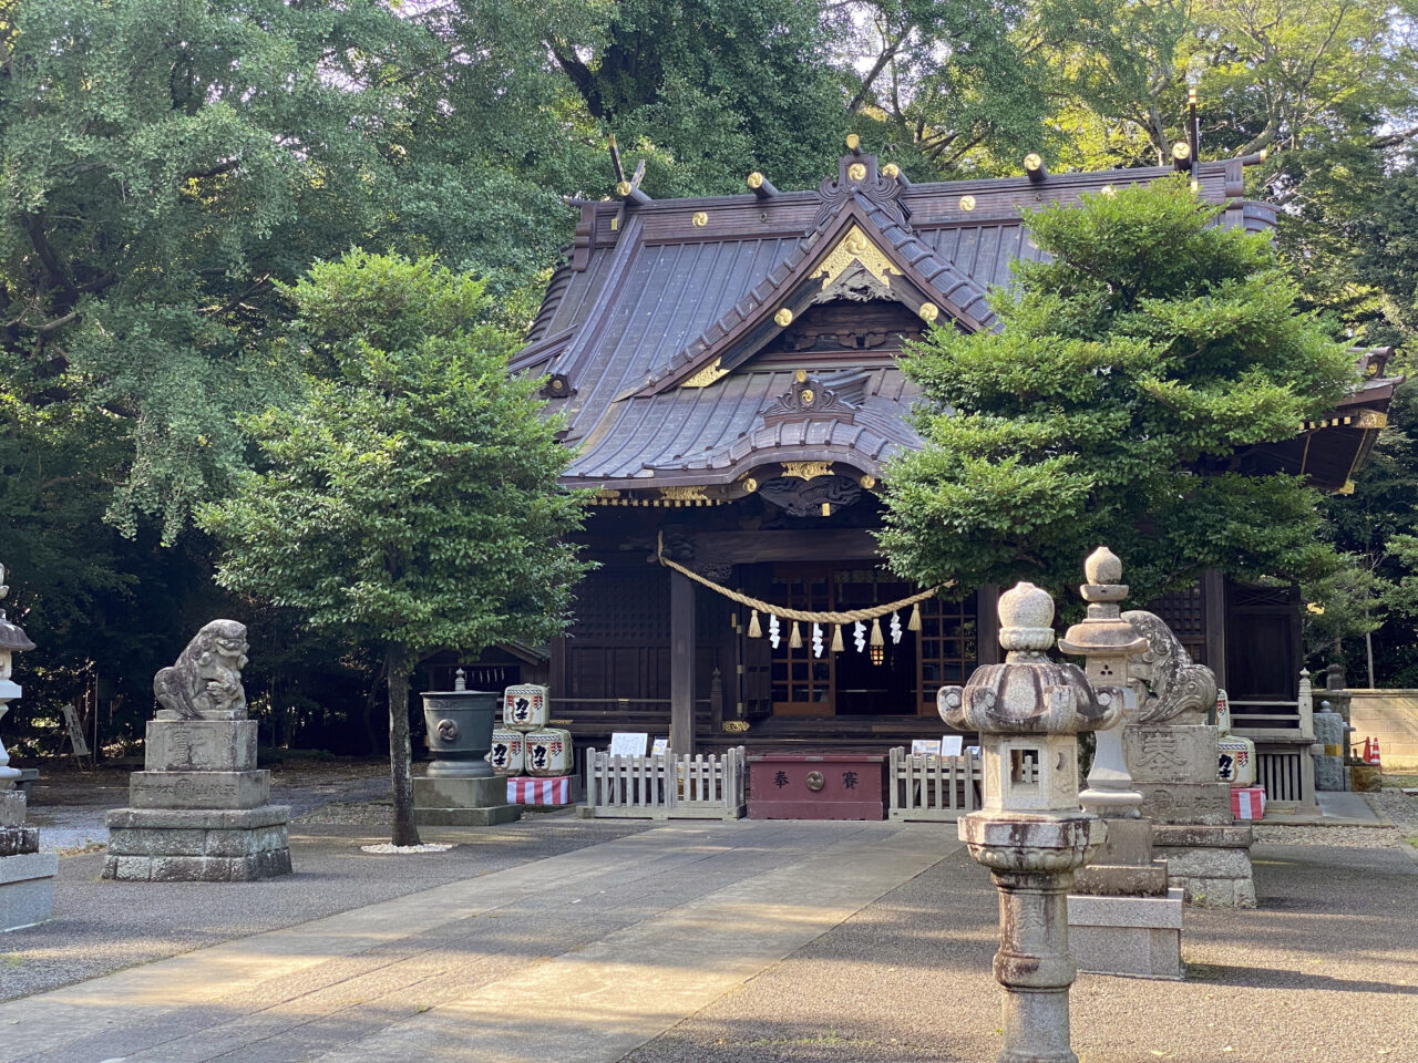
[[[1069,1047],[1068,890],[1073,869],[1102,845],[1103,822],[1078,805],[1078,733],[1110,727],[1122,696],[1055,663],[1054,600],[1029,583],[1000,597],[1003,665],[944,686],[940,714],[980,733],[984,806],[960,821],[960,839],[1000,890],[1004,1050],[998,1063],[1076,1063]]]

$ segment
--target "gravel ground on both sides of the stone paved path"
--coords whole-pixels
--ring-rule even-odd
[[[387,782],[372,771],[311,771],[305,781],[292,771],[282,781],[303,809],[291,831],[296,874],[285,879],[106,883],[101,855],[65,856],[60,918],[0,937],[0,999],[651,826],[536,815],[475,836],[425,831],[425,840],[461,842],[444,853],[370,856],[359,846],[387,838]],[[101,822],[122,804],[126,778],[91,784],[68,785],[68,804],[37,802],[33,819]],[[1418,853],[1400,840],[1418,833],[1418,802],[1398,791],[1370,802],[1397,828],[1259,825],[1261,907],[1187,909],[1185,981],[1081,975],[1081,1063],[1418,1063]],[[988,877],[953,853],[625,1063],[990,1059],[1000,1043],[997,914]]]

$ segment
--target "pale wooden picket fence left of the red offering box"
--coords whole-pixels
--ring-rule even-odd
[[[740,819],[749,760],[722,754],[613,757],[586,751],[586,804],[597,818]]]

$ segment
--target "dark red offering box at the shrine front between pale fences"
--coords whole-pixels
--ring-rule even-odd
[[[776,753],[749,758],[750,819],[885,819],[885,757]]]

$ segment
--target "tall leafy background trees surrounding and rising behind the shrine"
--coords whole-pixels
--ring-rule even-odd
[[[1271,149],[1248,181],[1283,207],[1302,305],[1407,343],[1414,3],[0,0],[0,520],[11,615],[41,646],[21,712],[102,687],[132,730],[152,672],[230,605],[191,514],[251,466],[240,418],[305,387],[281,285],[350,247],[437,254],[485,282],[482,323],[518,332],[571,235],[562,196],[610,190],[613,132],[658,197],[754,169],[810,187],[847,130],[915,180],[1018,173],[1029,150],[1153,164],[1197,84],[1207,157]],[[1289,400],[1271,401],[1266,424]],[[1407,503],[1361,480],[1326,510],[1383,581],[1375,638],[1402,668],[1407,600],[1384,595],[1412,571],[1390,544]],[[254,697],[315,704],[272,687],[315,660],[343,662],[342,699],[367,689],[357,648],[299,646],[254,660]]]

